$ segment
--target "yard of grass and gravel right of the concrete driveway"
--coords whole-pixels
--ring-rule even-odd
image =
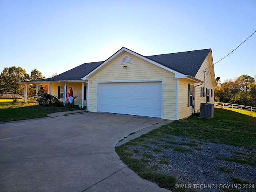
[[[215,108],[212,119],[174,121],[116,152],[140,177],[174,192],[254,191],[256,113],[250,115]]]

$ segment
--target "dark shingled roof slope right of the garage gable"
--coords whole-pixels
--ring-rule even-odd
[[[196,76],[211,49],[147,56],[163,66],[185,75]]]

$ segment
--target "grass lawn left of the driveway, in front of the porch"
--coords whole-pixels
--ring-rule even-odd
[[[23,100],[12,102],[12,99],[0,99],[0,122],[47,117],[47,114],[78,108],[40,106],[38,103],[24,103]]]

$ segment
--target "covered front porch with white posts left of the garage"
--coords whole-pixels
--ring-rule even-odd
[[[74,97],[74,105],[80,105],[82,108],[88,106],[88,82],[86,80],[68,80],[68,81],[43,81],[36,80],[22,82],[24,88],[24,102],[27,102],[28,85],[36,84],[36,96],[38,96],[38,85],[47,85],[47,93],[57,96],[62,102],[66,102],[69,97]]]

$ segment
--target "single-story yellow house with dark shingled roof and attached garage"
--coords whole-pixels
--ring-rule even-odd
[[[23,82],[49,84],[66,98],[71,87],[90,112],[111,112],[178,120],[214,103],[212,50],[142,56],[121,48],[104,62],[85,63],[53,78]]]

